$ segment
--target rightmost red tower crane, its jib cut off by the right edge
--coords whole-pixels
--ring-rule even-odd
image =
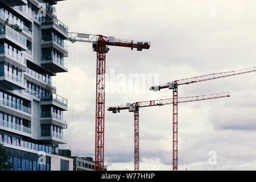
[[[200,82],[200,81],[207,81],[207,80],[214,80],[217,78],[224,78],[228,76],[234,76],[234,75],[241,75],[245,73],[250,73],[250,72],[255,72],[256,67],[253,68],[247,68],[247,69],[240,69],[237,71],[231,71],[231,72],[222,72],[222,73],[213,73],[209,75],[203,75],[203,76],[197,76],[197,77],[192,77],[192,78],[185,78],[182,80],[175,80],[172,82],[168,82],[167,84],[164,85],[159,85],[159,86],[151,86],[150,90],[154,91],[159,91],[161,89],[172,89],[173,90],[173,143],[172,143],[172,169],[173,171],[177,171],[177,121],[178,121],[178,86],[179,85],[187,85],[187,84],[192,84],[195,82]]]

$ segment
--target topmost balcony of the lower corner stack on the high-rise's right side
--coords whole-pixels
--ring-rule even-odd
[[[66,110],[66,111],[68,110],[68,100],[57,94],[43,96],[43,98],[41,99],[40,105],[54,105],[54,106],[60,107],[63,110]],[[57,119],[61,119],[61,118],[57,118]]]

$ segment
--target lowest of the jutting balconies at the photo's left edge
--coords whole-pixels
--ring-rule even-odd
[[[26,89],[23,84],[23,78],[11,73],[5,69],[0,71],[0,84],[4,86],[7,90],[22,90]]]

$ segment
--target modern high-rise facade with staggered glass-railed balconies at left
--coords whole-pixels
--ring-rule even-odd
[[[57,1],[0,0],[0,143],[14,171],[73,170],[58,150],[68,101],[52,77],[68,72],[68,27],[54,14]]]

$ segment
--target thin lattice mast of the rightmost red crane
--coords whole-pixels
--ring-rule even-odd
[[[177,102],[177,85],[174,86],[173,89],[173,116],[172,116],[172,134],[173,134],[173,142],[172,142],[172,170],[177,171],[177,131],[178,131],[178,126],[177,126],[177,121],[178,121],[178,102]]]

